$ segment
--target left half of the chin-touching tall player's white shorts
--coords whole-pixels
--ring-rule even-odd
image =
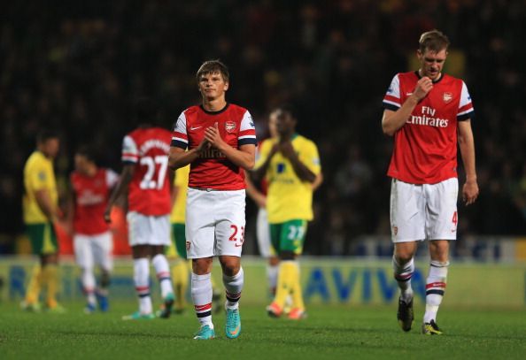
[[[391,240],[425,239],[425,204],[422,185],[391,180]]]

